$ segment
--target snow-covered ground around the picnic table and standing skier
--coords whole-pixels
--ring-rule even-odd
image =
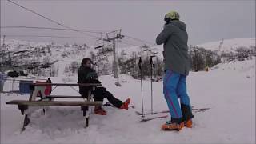
[[[122,101],[131,98],[135,109],[118,110],[105,106],[108,114],[91,114],[85,125],[78,106],[52,106],[32,114],[30,124],[21,133],[23,116],[18,106],[6,105],[28,95],[1,94],[1,143],[255,143],[255,58],[214,66],[209,72],[190,72],[188,93],[195,108],[210,107],[194,113],[192,129],[162,131],[170,119],[139,122],[135,111],[142,111],[141,83],[121,75],[122,86],[115,86],[112,75],[99,78],[103,86]],[[77,76],[52,78],[53,82],[77,82]],[[153,82],[154,111],[167,110],[162,82]],[[58,87],[54,94],[77,94]],[[143,81],[144,110],[150,111],[150,81]],[[106,101],[105,101],[106,102]]]

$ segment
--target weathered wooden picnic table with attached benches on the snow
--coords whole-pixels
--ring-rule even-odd
[[[57,86],[90,86],[92,89],[88,90],[88,97],[83,98],[81,95],[50,95],[49,89],[51,89],[51,86],[55,86],[55,88]],[[25,127],[30,123],[30,115],[38,109],[42,109],[45,113],[46,106],[81,106],[83,116],[86,117],[86,127],[88,127],[90,106],[102,105],[102,101],[94,101],[91,97],[91,90],[94,90],[97,86],[102,85],[99,83],[33,83],[30,84],[32,91],[29,100],[12,100],[6,102],[6,104],[18,105],[18,109],[21,110],[22,115],[25,114],[22,131],[25,130]],[[56,98],[61,98],[62,100],[55,101]],[[70,101],[70,98],[78,98],[79,101]]]

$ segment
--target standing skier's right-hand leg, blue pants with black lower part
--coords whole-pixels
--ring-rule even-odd
[[[193,118],[192,109],[190,105],[190,97],[186,91],[186,75],[181,75],[178,82],[177,94],[181,102],[181,110],[183,115],[183,121],[189,121]],[[192,123],[191,123],[192,126]]]

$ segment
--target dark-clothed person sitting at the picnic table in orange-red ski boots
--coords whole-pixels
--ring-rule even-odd
[[[97,79],[98,75],[96,74],[96,71],[91,68],[91,63],[92,61],[90,58],[82,59],[81,66],[78,70],[78,83],[101,83]],[[91,87],[79,86],[79,93],[82,97],[87,98],[89,89],[91,89]],[[118,98],[114,98],[113,94],[109,91],[106,91],[105,87],[96,87],[95,90],[92,91],[92,94],[94,94],[95,101],[103,101],[104,98],[107,98],[115,107],[128,110],[130,98],[127,98],[125,102],[122,102]],[[102,106],[95,106],[94,113],[100,115],[107,114],[106,111],[102,109]]]

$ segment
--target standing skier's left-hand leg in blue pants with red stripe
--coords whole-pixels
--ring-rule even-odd
[[[176,123],[182,122],[182,110],[179,106],[178,95],[176,94],[179,77],[180,74],[174,73],[170,70],[166,70],[163,81],[163,89],[166,102],[170,110],[171,122]]]

